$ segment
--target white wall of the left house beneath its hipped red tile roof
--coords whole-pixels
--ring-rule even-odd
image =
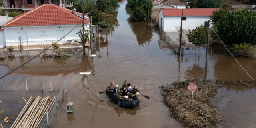
[[[20,36],[19,32],[27,33],[27,41],[28,44],[24,45],[36,45],[33,42],[36,41],[47,41],[47,40],[59,40],[60,35],[56,31],[64,31],[64,35],[66,35],[70,30],[72,30],[76,25],[66,25],[66,26],[26,26],[26,27],[5,27],[5,40],[6,46],[10,46],[10,42],[18,42],[18,38]],[[86,29],[88,29],[88,25],[86,25]],[[22,28],[22,29],[21,29]],[[77,26],[70,34],[68,34],[62,40],[77,40],[80,39],[78,34],[76,34],[79,30],[82,30],[82,25]],[[45,32],[45,36],[40,36],[40,31]],[[23,39],[23,41],[26,41]],[[31,44],[29,44],[31,43]]]

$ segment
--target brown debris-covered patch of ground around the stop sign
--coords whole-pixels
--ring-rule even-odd
[[[191,92],[188,85],[195,83],[197,90],[193,94],[191,104]],[[218,88],[227,85],[256,86],[250,81],[208,81],[207,84],[200,80],[187,80],[174,82],[166,87],[162,86],[163,102],[170,108],[171,116],[186,128],[206,128],[223,121],[210,101],[216,95]]]

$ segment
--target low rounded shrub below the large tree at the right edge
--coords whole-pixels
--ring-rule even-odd
[[[234,56],[238,57],[250,57],[254,54],[254,47],[250,43],[234,44],[232,50]]]

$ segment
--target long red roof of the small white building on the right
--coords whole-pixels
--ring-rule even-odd
[[[218,8],[188,8],[183,9],[183,16],[210,16]],[[161,9],[163,16],[181,16],[182,9]]]

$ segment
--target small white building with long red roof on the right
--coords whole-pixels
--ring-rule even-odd
[[[183,25],[186,30],[206,25],[212,12],[218,8],[183,9]],[[180,28],[182,9],[161,9],[159,12],[159,28],[164,32],[178,32]]]

